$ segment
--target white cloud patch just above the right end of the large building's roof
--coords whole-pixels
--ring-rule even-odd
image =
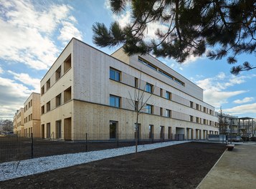
[[[228,103],[230,97],[247,92],[246,90],[229,91],[227,88],[236,84],[242,84],[245,82],[246,78],[250,77],[252,76],[227,76],[223,72],[219,72],[216,77],[201,79],[195,83],[204,89],[205,102],[214,107],[220,107],[221,105]]]

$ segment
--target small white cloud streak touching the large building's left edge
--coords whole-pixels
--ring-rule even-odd
[[[35,79],[29,76],[29,74],[17,74],[15,72],[8,71],[10,74],[14,75],[14,79],[22,82],[25,85],[32,86],[33,92],[40,92],[40,79]]]

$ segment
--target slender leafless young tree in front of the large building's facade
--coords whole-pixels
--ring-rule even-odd
[[[138,118],[141,115],[141,113],[145,112],[148,100],[151,98],[153,95],[153,91],[156,87],[156,84],[151,86],[151,92],[148,97],[146,97],[146,85],[141,87],[141,73],[140,73],[140,78],[138,79],[138,84],[135,86],[136,88],[134,89],[133,95],[131,95],[131,92],[128,91],[130,99],[128,100],[128,103],[131,105],[131,107],[134,108],[136,112],[136,123],[135,123],[135,130],[136,130],[136,152],[138,152],[138,130],[139,130],[139,123],[138,123]]]

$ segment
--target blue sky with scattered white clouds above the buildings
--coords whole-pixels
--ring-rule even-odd
[[[40,80],[72,37],[111,54],[116,48],[93,44],[95,22],[124,26],[129,10],[119,16],[108,0],[0,0],[0,119],[12,119],[32,92],[40,92]],[[148,26],[146,37],[155,37],[161,24]],[[204,102],[215,110],[238,117],[256,117],[256,69],[230,74],[226,59],[190,57],[184,64],[161,59],[179,74],[204,89]],[[255,62],[253,54],[241,54],[238,62]]]

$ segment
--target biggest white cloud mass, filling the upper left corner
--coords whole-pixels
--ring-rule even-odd
[[[52,41],[58,28],[62,43],[71,37],[82,37],[75,28],[75,18],[70,15],[72,7],[68,5],[49,4],[37,10],[32,1],[10,0],[0,1],[0,7],[0,59],[6,62],[48,69],[60,53]]]

